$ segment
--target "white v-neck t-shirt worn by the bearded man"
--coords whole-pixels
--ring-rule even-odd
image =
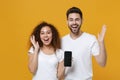
[[[70,35],[62,38],[62,49],[72,51],[72,67],[65,70],[65,80],[92,80],[92,55],[99,55],[99,45],[94,35],[84,32],[73,40]]]

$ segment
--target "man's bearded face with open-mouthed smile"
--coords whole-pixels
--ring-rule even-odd
[[[78,34],[81,24],[82,24],[82,19],[78,13],[71,13],[68,15],[68,27],[71,30],[73,34]]]

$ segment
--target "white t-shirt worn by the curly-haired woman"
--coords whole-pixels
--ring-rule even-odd
[[[33,47],[30,48],[29,53],[33,54]],[[33,76],[33,80],[58,80],[57,66],[64,58],[63,51],[57,49],[55,54],[47,55],[41,50],[38,55],[38,69]]]

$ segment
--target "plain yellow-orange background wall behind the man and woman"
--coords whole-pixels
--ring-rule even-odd
[[[119,0],[0,0],[0,80],[31,80],[28,70],[28,39],[41,21],[54,24],[61,37],[69,32],[66,10],[81,8],[82,30],[95,34],[107,25],[108,53],[105,68],[93,59],[93,80],[120,80]]]

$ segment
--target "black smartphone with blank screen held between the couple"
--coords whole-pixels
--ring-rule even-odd
[[[71,67],[72,66],[72,51],[64,52],[64,66]]]

